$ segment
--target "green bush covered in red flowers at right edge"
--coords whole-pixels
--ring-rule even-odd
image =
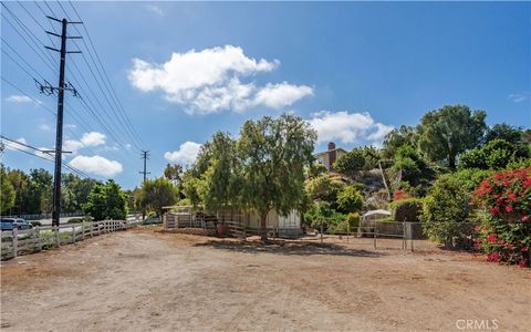
[[[530,266],[531,167],[499,172],[485,179],[475,200],[486,211],[476,243],[493,262]]]

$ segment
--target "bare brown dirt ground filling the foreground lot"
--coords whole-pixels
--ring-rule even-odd
[[[460,320],[530,328],[531,272],[467,253],[156,230],[2,262],[2,331],[462,331]]]

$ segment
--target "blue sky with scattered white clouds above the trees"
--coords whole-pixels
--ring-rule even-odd
[[[49,2],[50,8],[39,4],[46,13],[64,15],[56,2]],[[74,19],[70,3],[62,6]],[[17,17],[44,44],[51,41],[37,22],[52,28],[33,3],[6,7],[10,11],[2,7],[2,39],[35,71],[2,42],[2,77],[23,93],[2,81],[1,132],[51,148],[55,118],[45,107],[55,111],[56,100],[39,94],[32,76],[56,84],[56,74],[8,21],[22,31]],[[113,115],[119,106],[113,100],[106,103],[106,90],[97,87],[105,83],[96,80],[97,72],[96,79],[92,76],[90,68],[96,71],[96,64],[77,41],[87,61],[69,55],[66,80],[79,82],[74,85],[87,108],[100,114],[100,122],[113,133],[67,94],[64,135],[74,154],[65,163],[98,179],[113,177],[125,188],[142,180],[139,148],[150,151],[150,177],[159,176],[168,160],[189,163],[214,132],[237,134],[246,120],[283,111],[317,129],[316,149],[331,139],[345,148],[377,145],[389,128],[415,125],[426,111],[446,104],[485,110],[490,125],[531,126],[529,2],[75,2],[74,7],[142,142],[135,144],[133,134],[122,129],[125,120]],[[69,48],[76,45],[70,42]],[[48,51],[41,56],[58,60]],[[2,162],[22,169],[53,169],[52,163],[9,148]]]

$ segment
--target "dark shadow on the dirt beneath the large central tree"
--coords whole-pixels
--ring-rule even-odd
[[[269,252],[278,255],[333,255],[333,256],[351,256],[351,257],[381,257],[386,256],[385,252],[374,252],[367,250],[348,249],[333,243],[312,243],[312,242],[291,242],[291,241],[231,241],[231,240],[209,240],[206,242],[195,243],[194,247],[211,247],[214,249],[232,250],[239,252]]]

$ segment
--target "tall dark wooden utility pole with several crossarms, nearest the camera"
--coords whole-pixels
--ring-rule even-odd
[[[59,227],[59,219],[61,217],[61,166],[63,157],[63,106],[64,106],[64,91],[72,91],[74,96],[77,96],[77,91],[72,87],[72,84],[64,83],[64,68],[67,53],[81,53],[81,51],[66,51],[66,40],[67,39],[81,39],[81,37],[69,37],[66,34],[67,24],[82,24],[82,22],[69,22],[66,19],[58,20],[55,18],[46,17],[50,20],[60,22],[62,25],[61,35],[46,31],[48,34],[52,34],[61,38],[61,50],[44,46],[49,50],[60,53],[61,60],[59,64],[59,87],[51,86],[50,83],[45,82],[45,85],[40,84],[41,93],[48,95],[54,94],[58,92],[58,125],[55,132],[55,167],[53,175],[53,210],[52,210],[52,226]]]

